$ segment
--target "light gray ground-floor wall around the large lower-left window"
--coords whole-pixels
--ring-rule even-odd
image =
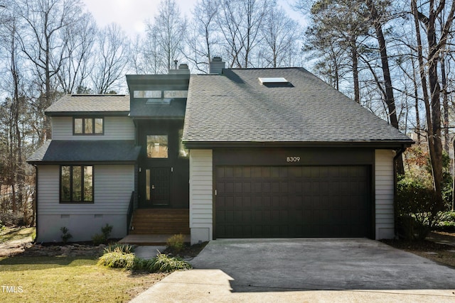
[[[60,228],[70,241],[90,241],[101,227],[112,225],[112,238],[127,234],[127,211],[134,191],[134,165],[94,165],[94,203],[60,204],[60,167],[38,166],[38,242],[60,242]]]

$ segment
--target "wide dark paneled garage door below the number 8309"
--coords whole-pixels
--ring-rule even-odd
[[[368,237],[369,166],[218,166],[217,238]]]

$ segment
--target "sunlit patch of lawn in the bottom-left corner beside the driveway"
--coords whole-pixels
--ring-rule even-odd
[[[128,302],[165,274],[137,274],[97,265],[90,257],[0,258],[0,302]]]

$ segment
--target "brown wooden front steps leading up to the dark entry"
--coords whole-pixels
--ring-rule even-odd
[[[129,235],[190,234],[189,209],[137,209]]]

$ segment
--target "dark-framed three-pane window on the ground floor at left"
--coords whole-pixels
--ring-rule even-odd
[[[93,167],[60,166],[60,203],[93,202]]]

